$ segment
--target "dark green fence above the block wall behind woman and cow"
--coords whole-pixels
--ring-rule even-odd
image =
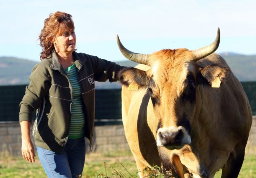
[[[256,82],[242,82],[256,115]],[[18,121],[19,103],[26,85],[0,86],[0,121]],[[95,90],[95,124],[121,124],[121,90]]]

